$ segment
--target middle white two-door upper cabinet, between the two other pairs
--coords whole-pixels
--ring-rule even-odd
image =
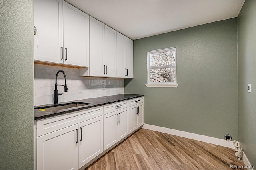
[[[116,31],[90,16],[89,76],[116,77]]]

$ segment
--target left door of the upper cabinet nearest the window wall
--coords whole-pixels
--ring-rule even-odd
[[[125,78],[125,39],[126,37],[117,32],[116,35],[116,76]]]

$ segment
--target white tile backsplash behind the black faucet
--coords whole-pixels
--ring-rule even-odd
[[[67,68],[60,66],[34,65],[34,92],[35,106],[54,103],[54,84],[58,70],[66,74],[68,92],[64,92],[64,86],[58,86],[58,102],[96,98],[124,93],[123,78],[97,78],[79,77],[78,68]],[[62,72],[58,74],[57,84],[65,84]],[[102,84],[106,84],[102,90]]]

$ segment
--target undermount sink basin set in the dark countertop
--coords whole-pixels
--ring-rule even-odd
[[[91,103],[83,103],[83,102],[71,102],[71,103],[65,103],[65,104],[56,104],[53,106],[46,106],[46,107],[36,107],[35,109],[52,112],[52,111],[58,111],[62,109],[69,109],[72,107],[79,107],[79,106],[85,106]]]

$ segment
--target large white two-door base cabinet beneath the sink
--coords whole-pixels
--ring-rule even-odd
[[[102,107],[98,107],[38,121],[37,134],[54,130],[36,137],[36,169],[78,170],[102,153],[102,114]],[[76,123],[70,125],[72,122]],[[68,127],[63,128],[64,124]]]

